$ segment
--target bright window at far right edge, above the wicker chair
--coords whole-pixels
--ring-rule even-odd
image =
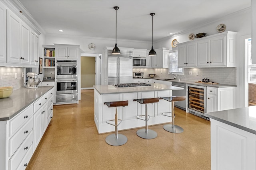
[[[248,82],[256,84],[256,64],[252,64],[252,39],[248,39]]]

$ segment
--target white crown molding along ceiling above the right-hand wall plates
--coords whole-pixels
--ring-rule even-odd
[[[185,33],[190,33],[191,30],[195,30],[195,29],[199,29],[199,28],[201,28],[201,27],[205,27],[205,26],[207,26],[207,25],[209,25],[209,24],[215,23],[215,22],[217,22],[217,21],[221,21],[221,20],[223,20],[224,18],[230,18],[230,17],[238,16],[238,15],[241,15],[241,14],[244,14],[244,13],[247,13],[247,12],[251,12],[251,11],[252,11],[252,8],[251,8],[251,7],[248,7],[248,8],[245,8],[245,9],[243,9],[243,10],[239,10],[239,11],[233,12],[233,13],[231,13],[231,14],[228,14],[228,15],[226,15],[226,16],[220,18],[220,19],[213,20],[213,21],[209,21],[209,22],[203,23],[203,24],[201,24],[201,25],[198,25],[198,26],[196,26],[196,27],[192,27],[192,28],[189,28],[189,29],[185,29],[185,30],[183,30],[183,31],[180,31],[180,32],[178,32],[178,33],[174,33],[174,34],[169,35],[169,36],[167,36],[167,37],[164,37],[164,38],[162,38],[162,39],[160,39],[160,40],[158,40],[158,41],[155,41],[155,43],[161,42],[161,41],[166,40],[166,39],[171,39],[171,38],[173,38],[173,37],[177,37],[177,36],[183,35],[183,34],[185,34]]]

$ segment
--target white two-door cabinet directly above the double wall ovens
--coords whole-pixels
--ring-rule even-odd
[[[75,60],[79,56],[79,45],[54,44],[56,59]]]

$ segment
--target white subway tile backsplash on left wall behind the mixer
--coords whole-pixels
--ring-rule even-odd
[[[15,73],[17,73],[17,79],[15,79]],[[0,87],[13,86],[14,90],[24,87],[25,74],[23,67],[0,66]]]

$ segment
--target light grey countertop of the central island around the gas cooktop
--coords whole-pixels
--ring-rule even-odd
[[[94,89],[100,94],[116,94],[116,93],[132,93],[132,92],[152,92],[162,90],[182,90],[182,87],[159,84],[159,83],[147,83],[151,86],[138,86],[138,87],[124,87],[117,88],[113,85],[94,85]]]

